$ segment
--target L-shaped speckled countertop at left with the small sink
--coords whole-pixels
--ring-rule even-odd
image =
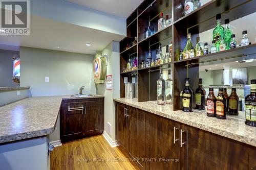
[[[30,97],[0,107],[0,143],[45,136],[55,129],[62,100],[103,98],[102,95]]]

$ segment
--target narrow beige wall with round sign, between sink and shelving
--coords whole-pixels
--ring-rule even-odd
[[[115,106],[113,98],[120,98],[120,75],[119,75],[119,42],[112,41],[104,48],[102,54],[109,57],[109,64],[106,67],[106,75],[113,75],[113,90],[105,90],[105,83],[97,85],[97,93],[104,95],[104,131],[109,134],[112,140],[116,140],[115,133]],[[111,124],[111,133],[108,130],[108,123]]]

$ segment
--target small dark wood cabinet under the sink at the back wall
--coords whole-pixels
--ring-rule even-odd
[[[62,143],[102,134],[104,130],[104,98],[63,100],[60,108],[60,140]]]

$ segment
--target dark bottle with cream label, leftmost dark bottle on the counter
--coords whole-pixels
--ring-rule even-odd
[[[193,112],[193,90],[189,88],[189,78],[186,78],[185,89],[182,91],[182,111]]]

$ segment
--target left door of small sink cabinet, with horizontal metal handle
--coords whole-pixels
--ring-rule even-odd
[[[66,103],[60,109],[60,138],[67,142],[83,136],[84,105],[82,103]]]

